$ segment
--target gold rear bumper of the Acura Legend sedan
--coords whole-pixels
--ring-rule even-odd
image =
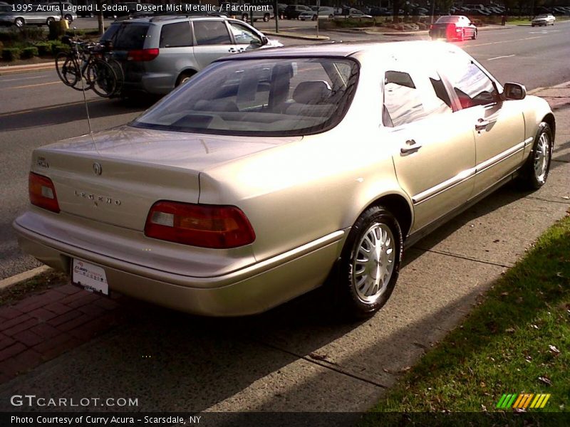
[[[42,263],[68,272],[72,258],[100,265],[110,290],[206,316],[242,316],[269,310],[309,290],[318,288],[330,272],[343,246],[346,231],[336,231],[246,268],[212,277],[192,277],[157,272],[110,258],[101,251],[88,251],[43,236],[13,223],[22,250]]]

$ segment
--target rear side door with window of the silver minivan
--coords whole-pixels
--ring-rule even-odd
[[[224,20],[204,19],[204,21],[193,21],[192,25],[194,56],[199,69],[207,67],[222,56],[237,52]]]

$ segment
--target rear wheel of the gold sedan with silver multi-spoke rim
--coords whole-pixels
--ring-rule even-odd
[[[383,206],[358,217],[343,248],[338,278],[338,302],[348,315],[370,317],[385,305],[398,280],[402,248],[398,220]]]

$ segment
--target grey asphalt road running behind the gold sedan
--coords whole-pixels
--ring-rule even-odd
[[[287,31],[311,28],[314,23],[283,21]],[[257,23],[273,28],[274,23]],[[366,33],[323,33],[332,41],[393,42],[420,37],[382,36]],[[286,45],[306,44],[278,38]],[[480,31],[475,41],[460,43],[499,80],[517,81],[528,89],[556,85],[570,80],[570,22],[554,27],[514,27]],[[29,158],[33,148],[88,132],[83,94],[66,88],[54,70],[0,75],[0,279],[21,273],[39,264],[22,254],[11,231],[11,222],[26,208]],[[125,105],[87,95],[93,130],[122,125],[152,105]]]

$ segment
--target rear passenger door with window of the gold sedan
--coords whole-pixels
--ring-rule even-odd
[[[475,175],[475,140],[435,67],[399,60],[385,73],[383,124],[395,144],[393,161],[400,186],[413,201],[417,231],[464,204]]]

